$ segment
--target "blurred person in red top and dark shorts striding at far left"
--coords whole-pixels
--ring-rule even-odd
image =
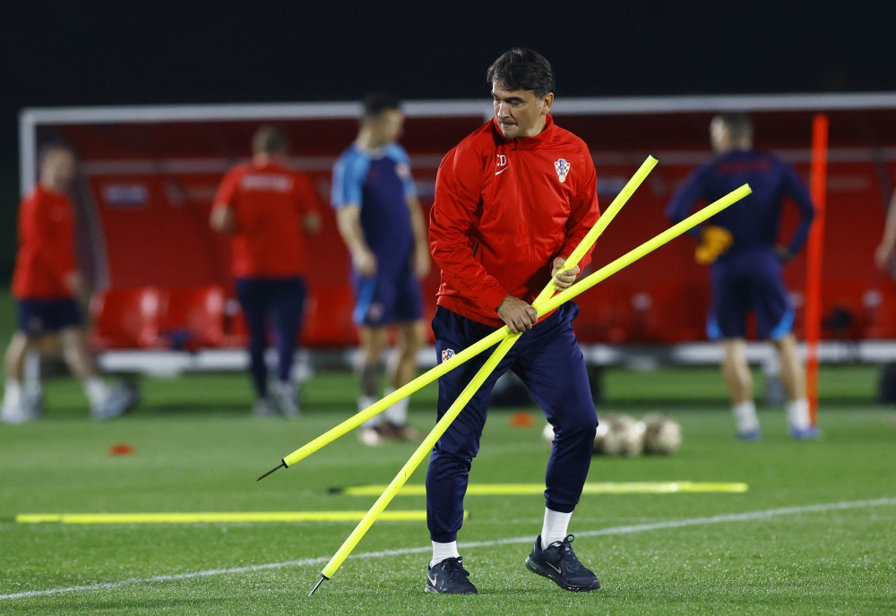
[[[65,363],[84,383],[93,418],[122,415],[136,404],[136,392],[108,388],[102,381],[75,301],[86,306],[90,298],[75,260],[74,209],[66,194],[74,178],[74,155],[63,146],[51,146],[41,153],[39,168],[39,184],[19,210],[19,253],[13,274],[19,323],[6,351],[0,421],[22,424],[38,418],[39,392],[26,393],[22,386],[25,357],[56,337]]]

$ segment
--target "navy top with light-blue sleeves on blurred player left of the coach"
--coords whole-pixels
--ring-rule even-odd
[[[407,263],[414,246],[407,199],[417,195],[408,153],[397,143],[363,150],[352,143],[333,165],[331,202],[335,210],[361,209],[361,228],[381,269]]]

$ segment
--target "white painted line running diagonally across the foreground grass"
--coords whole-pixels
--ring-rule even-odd
[[[655,522],[653,524],[636,524],[633,526],[610,526],[609,528],[601,528],[600,530],[589,530],[582,533],[576,533],[576,537],[596,537],[600,535],[630,535],[632,533],[643,533],[651,530],[662,530],[665,528],[681,528],[683,526],[703,526],[708,524],[721,524],[724,522],[750,522],[753,520],[761,520],[767,518],[776,518],[778,516],[789,516],[800,513],[812,513],[815,511],[832,511],[837,509],[862,509],[866,507],[882,507],[886,505],[896,505],[896,498],[883,498],[874,500],[852,500],[846,502],[831,502],[820,505],[806,505],[804,507],[782,507],[780,509],[765,509],[764,511],[747,511],[745,513],[730,513],[721,516],[710,516],[707,518],[685,518],[681,520],[669,520],[668,522]],[[493,541],[474,541],[468,543],[459,543],[461,548],[484,548],[495,545],[510,545],[514,543],[532,543],[530,536],[511,537],[508,539],[496,539]],[[405,556],[408,554],[423,554],[432,550],[432,547],[418,548],[401,548],[399,550],[381,550],[379,552],[362,552],[353,554],[349,559],[374,559],[386,556]],[[271,562],[264,565],[248,565],[246,567],[234,567],[230,569],[208,569],[205,571],[194,571],[192,573],[177,573],[169,576],[154,577],[133,577],[131,579],[123,579],[117,582],[103,582],[101,584],[86,584],[83,586],[64,586],[62,588],[50,588],[48,590],[30,590],[23,593],[13,593],[11,595],[0,595],[0,600],[6,599],[26,599],[36,596],[61,595],[63,593],[76,593],[89,590],[104,590],[106,588],[117,588],[119,586],[133,586],[134,584],[151,584],[153,582],[175,582],[181,579],[194,579],[196,577],[211,577],[221,575],[232,575],[238,573],[253,573],[254,571],[264,571],[269,569],[285,569],[287,567],[306,567],[307,565],[325,564],[330,561],[329,556],[320,556],[313,559],[286,560],[284,562]]]

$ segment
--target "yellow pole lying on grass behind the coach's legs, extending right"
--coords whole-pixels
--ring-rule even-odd
[[[340,489],[347,496],[378,496],[386,485],[353,485]],[[746,483],[695,483],[695,482],[628,482],[585,483],[582,494],[676,494],[691,492],[746,492]],[[544,483],[470,483],[468,496],[513,496],[517,494],[541,494]],[[399,496],[425,496],[426,485],[403,485]],[[387,513],[383,511],[383,514]]]

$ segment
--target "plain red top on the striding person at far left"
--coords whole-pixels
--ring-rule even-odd
[[[78,271],[74,208],[65,193],[38,185],[19,207],[19,253],[13,295],[19,299],[71,299],[67,278]]]

